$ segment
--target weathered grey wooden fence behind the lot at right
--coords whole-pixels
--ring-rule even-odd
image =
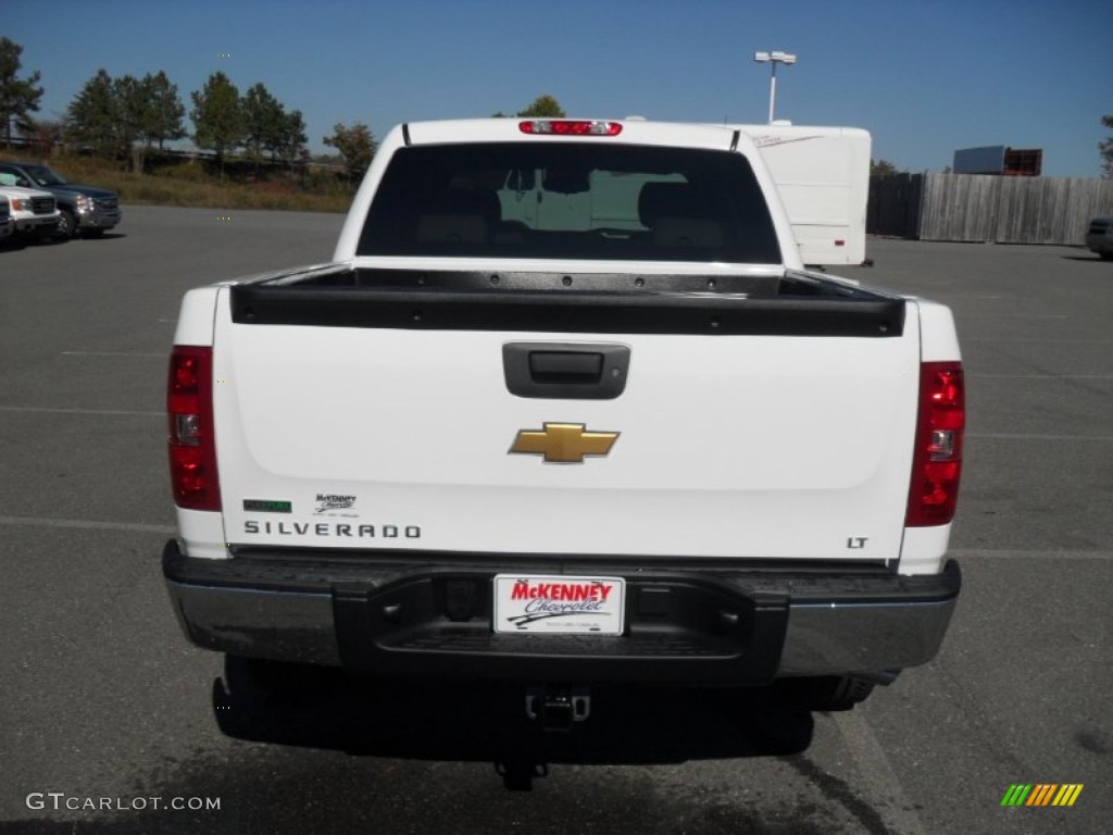
[[[1085,243],[1113,215],[1113,179],[902,174],[871,177],[866,229],[920,240]]]

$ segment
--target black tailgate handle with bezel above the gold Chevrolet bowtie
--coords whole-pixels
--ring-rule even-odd
[[[630,348],[510,342],[502,346],[502,367],[506,389],[519,397],[613,400],[626,390]]]

